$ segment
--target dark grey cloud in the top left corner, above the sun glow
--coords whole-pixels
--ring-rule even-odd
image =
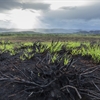
[[[23,3],[21,0],[0,0],[0,12],[12,10],[12,9],[34,9],[34,10],[45,10],[49,9],[50,4],[38,3],[38,2],[27,2]]]

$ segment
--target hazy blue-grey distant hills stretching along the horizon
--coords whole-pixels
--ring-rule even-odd
[[[5,29],[0,28],[0,33],[23,32],[23,33],[80,33],[80,34],[100,34],[100,30],[78,30],[78,29]]]

